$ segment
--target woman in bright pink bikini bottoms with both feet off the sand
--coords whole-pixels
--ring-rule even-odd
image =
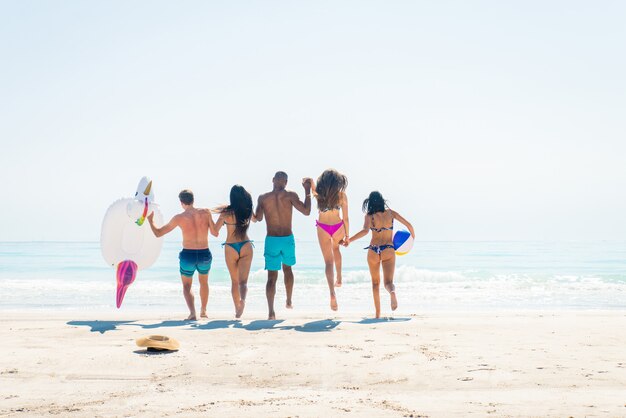
[[[348,186],[348,178],[337,170],[326,170],[317,179],[313,187],[313,195],[317,199],[319,219],[317,226],[317,239],[322,249],[324,263],[326,264],[326,280],[330,290],[330,308],[336,311],[337,297],[335,287],[341,287],[341,252],[339,242],[348,240],[348,197],[345,190]],[[342,219],[343,217],[343,219]],[[334,273],[337,270],[337,281]]]

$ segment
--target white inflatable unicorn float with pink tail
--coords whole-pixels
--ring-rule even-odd
[[[143,177],[134,197],[113,202],[104,215],[100,248],[107,264],[117,268],[118,308],[137,271],[150,267],[161,253],[163,238],[155,237],[145,222],[151,212],[155,222],[162,224],[163,216],[154,203],[152,181]]]

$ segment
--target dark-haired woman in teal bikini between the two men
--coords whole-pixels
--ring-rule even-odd
[[[235,317],[240,318],[246,304],[248,275],[252,264],[253,244],[248,238],[248,227],[253,220],[252,196],[238,184],[230,189],[230,204],[218,208],[220,213],[215,223],[217,236],[222,225],[226,225],[224,256],[230,273],[231,293],[235,304]]]

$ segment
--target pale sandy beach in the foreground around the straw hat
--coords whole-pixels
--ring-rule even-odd
[[[0,415],[626,416],[622,311],[289,314],[3,313]]]

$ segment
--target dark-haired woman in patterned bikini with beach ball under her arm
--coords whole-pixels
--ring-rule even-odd
[[[374,295],[374,306],[376,308],[376,318],[380,318],[380,268],[383,269],[385,289],[391,297],[391,310],[398,307],[396,298],[396,287],[393,284],[393,274],[396,268],[396,252],[393,248],[393,221],[398,220],[404,224],[415,238],[413,226],[396,211],[389,209],[387,202],[380,192],[371,192],[369,197],[363,201],[363,212],[365,212],[365,222],[363,229],[354,234],[344,245],[364,237],[372,231],[372,240],[367,249],[367,264],[372,276],[372,292]]]

